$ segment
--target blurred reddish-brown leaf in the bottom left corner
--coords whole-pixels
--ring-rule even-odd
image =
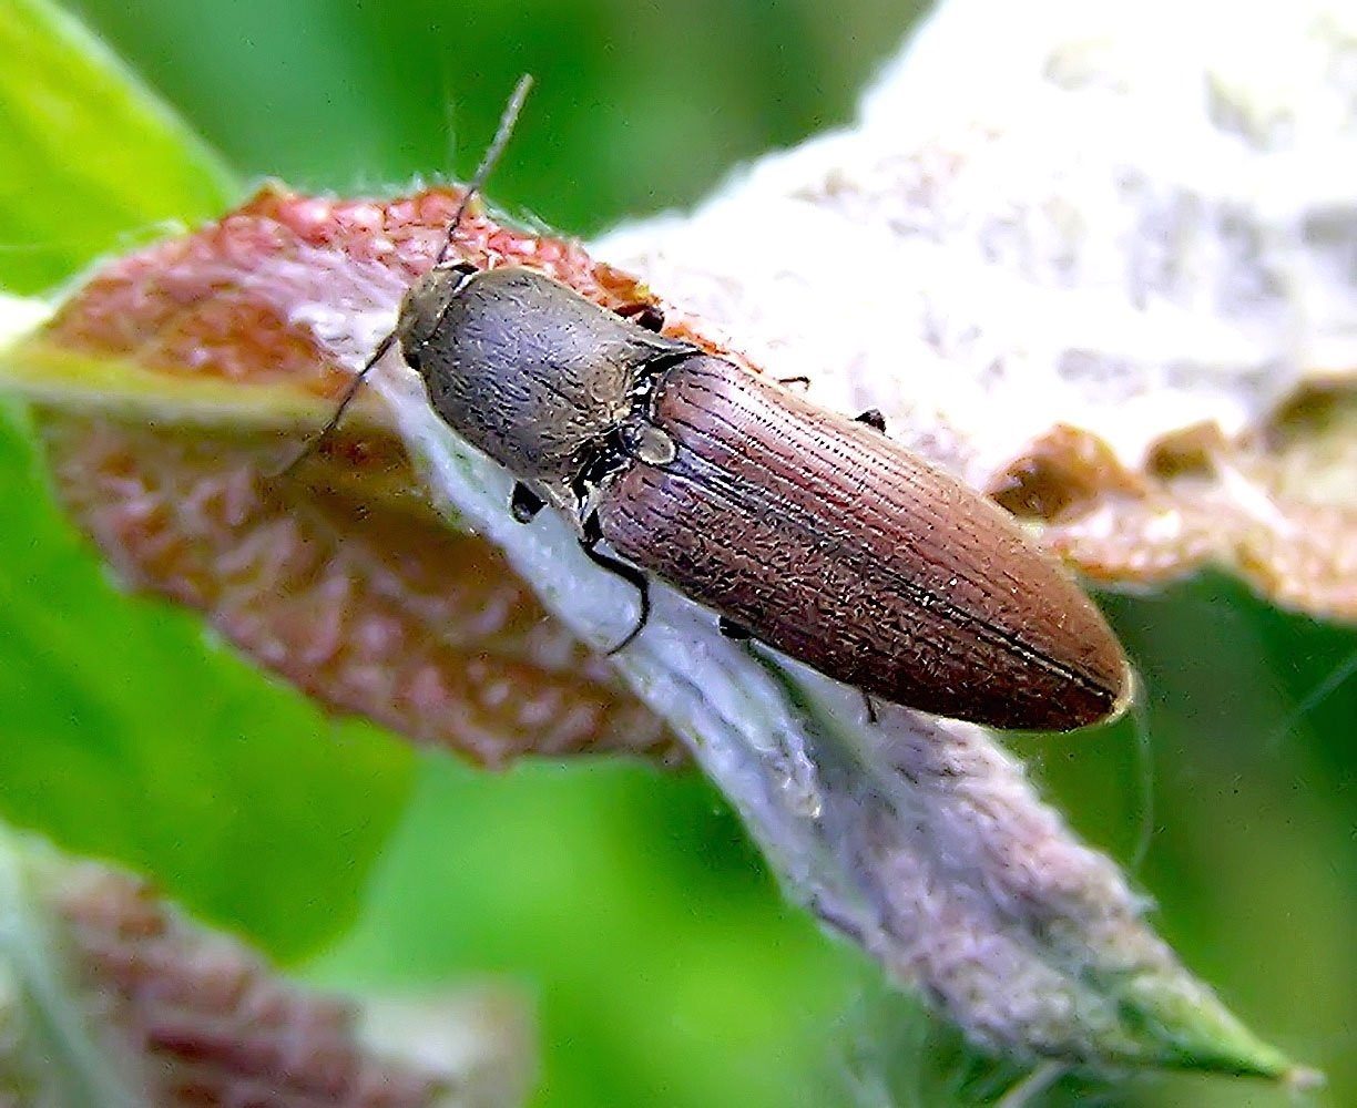
[[[532,1080],[531,1020],[502,990],[440,1005],[309,991],[235,938],[186,918],[142,880],[46,852],[35,857],[22,918],[41,930],[11,941],[50,951],[54,962],[16,959],[11,968],[16,985],[33,989],[33,1006],[22,1010],[43,1006],[60,1017],[49,1028],[11,1013],[20,1042],[49,1031],[56,1040],[52,1056],[38,1050],[0,1059],[0,1103],[56,1104],[84,1080],[155,1108],[452,1108],[517,1104]],[[50,976],[30,981],[34,966]],[[388,1017],[403,1028],[395,1048]],[[77,1048],[81,1033],[94,1052]],[[441,1050],[427,1050],[434,1046]],[[64,1067],[62,1051],[83,1074]],[[5,1099],[11,1088],[15,1101]]]

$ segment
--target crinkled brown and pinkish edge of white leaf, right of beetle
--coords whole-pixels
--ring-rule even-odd
[[[1144,471],[1088,431],[1057,427],[992,486],[1042,540],[1106,585],[1162,585],[1229,568],[1278,605],[1357,620],[1357,404],[1305,392],[1258,434],[1197,424],[1160,439]]]

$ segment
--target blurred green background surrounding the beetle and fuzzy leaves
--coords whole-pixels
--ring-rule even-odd
[[[741,160],[845,122],[913,18],[877,0],[71,8],[242,179],[342,194],[467,174],[532,72],[490,193],[578,235],[692,202]],[[49,170],[12,159],[0,207]],[[0,217],[4,288],[50,289],[153,231],[134,205],[91,226],[77,191],[45,202],[41,225]],[[981,1101],[1011,1074],[784,906],[695,774],[415,758],[258,678],[186,614],[121,597],[46,502],[22,412],[5,420],[5,816],[145,868],[316,981],[520,983],[541,1024],[540,1105],[928,1105]],[[1136,875],[1166,938],[1265,1037],[1329,1071],[1326,1100],[1354,1104],[1357,678],[1307,704],[1357,635],[1215,578],[1107,606],[1149,689],[1148,753],[1130,721],[1023,753],[1124,863],[1148,819]],[[1072,1100],[1288,1103],[1196,1077],[1065,1084],[1044,1103]]]

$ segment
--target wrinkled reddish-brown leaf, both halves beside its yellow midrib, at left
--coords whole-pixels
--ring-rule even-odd
[[[205,380],[319,397],[323,415],[351,370],[322,308],[389,317],[455,203],[445,191],[379,205],[270,189],[102,270],[34,346],[151,370],[167,400],[151,419],[43,407],[58,488],[123,580],[201,609],[324,704],[487,765],[581,751],[674,761],[662,724],[498,552],[434,515],[395,437],[358,420],[278,477],[301,441],[286,418],[284,430],[229,410],[212,424],[175,419],[175,388]],[[483,264],[531,260],[604,304],[643,296],[578,247],[480,214],[459,247]]]

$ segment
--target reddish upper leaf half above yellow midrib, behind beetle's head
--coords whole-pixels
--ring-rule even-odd
[[[326,199],[270,186],[194,235],[111,262],[46,332],[58,347],[129,357],[171,377],[285,382],[337,397],[349,380],[313,316],[394,311],[442,245],[460,194],[389,202]],[[531,264],[605,306],[647,300],[634,278],[559,239],[472,210],[457,252],[483,267]]]

